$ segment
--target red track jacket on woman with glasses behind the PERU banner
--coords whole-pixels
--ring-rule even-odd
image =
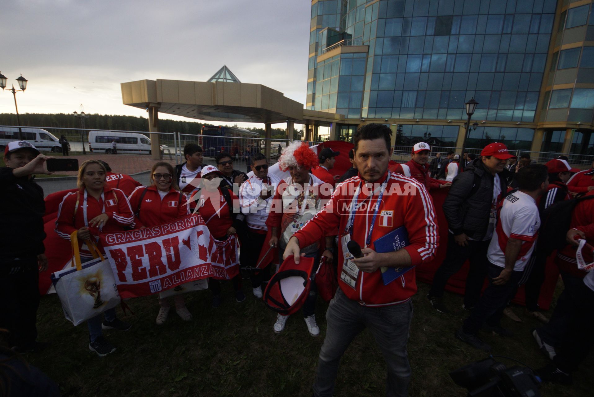
[[[146,190],[146,193],[144,191]],[[143,196],[140,203],[140,197]],[[134,212],[134,227],[154,226],[167,222],[180,216],[188,215],[188,199],[184,193],[171,188],[161,199],[157,187],[137,187],[128,197],[132,211]],[[139,205],[140,204],[140,205]]]

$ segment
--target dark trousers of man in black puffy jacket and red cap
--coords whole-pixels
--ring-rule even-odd
[[[485,282],[486,251],[489,248],[489,240],[473,241],[469,240],[466,247],[460,247],[454,240],[454,235],[448,233],[447,254],[445,260],[441,263],[437,272],[433,276],[433,284],[429,296],[443,297],[444,288],[451,276],[456,274],[462,268],[467,259],[470,260],[470,269],[466,277],[466,289],[464,292],[465,307],[473,307],[481,297],[481,289]]]

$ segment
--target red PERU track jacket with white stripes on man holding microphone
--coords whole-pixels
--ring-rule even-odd
[[[386,191],[384,192],[375,226],[371,235],[369,248],[374,249],[374,241],[388,234],[400,226],[405,226],[409,236],[409,245],[405,249],[412,259],[413,265],[429,261],[437,250],[439,234],[435,220],[435,210],[431,196],[416,179],[404,177],[387,171],[377,183],[388,177]],[[299,245],[305,247],[315,240],[328,234],[328,231],[338,226],[339,235],[345,234],[349,211],[343,208],[343,203],[352,203],[353,192],[361,183],[361,174],[347,179],[336,187],[330,201],[315,215],[303,228],[295,233]],[[369,196],[365,190],[359,195],[358,202]],[[373,205],[366,206],[355,215],[353,223],[352,240],[364,247],[366,237],[371,226],[373,207],[377,202],[377,194],[371,197]],[[339,244],[338,273],[343,266],[342,244]],[[339,286],[352,300],[368,306],[384,306],[404,303],[416,292],[415,269],[406,272],[402,278],[384,285],[381,279],[381,270],[373,273],[359,272],[355,289],[339,278]]]

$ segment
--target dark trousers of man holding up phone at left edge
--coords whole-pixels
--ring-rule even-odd
[[[12,346],[26,348],[37,339],[39,267],[37,256],[0,260],[0,328]]]

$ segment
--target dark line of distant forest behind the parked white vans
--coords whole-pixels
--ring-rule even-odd
[[[20,118],[23,127],[80,128],[80,119],[72,114],[26,113],[21,114]],[[216,122],[213,122],[213,124],[217,125]],[[0,125],[17,125],[17,116],[11,113],[0,113]],[[159,131],[162,133],[198,134],[202,126],[202,123],[195,121],[159,119]],[[90,114],[89,118],[84,121],[84,127],[86,130],[148,132],[149,119],[137,116]],[[264,128],[250,127],[246,129],[255,131],[264,137]],[[56,136],[61,134],[71,137],[78,136],[77,131],[72,130],[49,130],[49,132]],[[273,138],[284,138],[285,136],[286,132],[284,128],[273,128]]]

